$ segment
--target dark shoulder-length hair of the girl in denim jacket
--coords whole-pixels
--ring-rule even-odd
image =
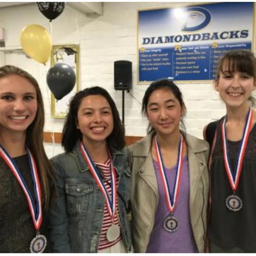
[[[120,120],[114,100],[108,91],[98,86],[77,92],[70,101],[69,113],[62,131],[62,147],[64,148],[65,152],[71,152],[77,140],[82,140],[82,134],[80,130],[77,129],[76,125],[77,113],[82,99],[90,95],[101,95],[109,102],[113,115],[114,127],[112,133],[108,138],[106,138],[106,142],[110,148],[113,148],[114,150],[121,150],[125,146],[124,126]]]

